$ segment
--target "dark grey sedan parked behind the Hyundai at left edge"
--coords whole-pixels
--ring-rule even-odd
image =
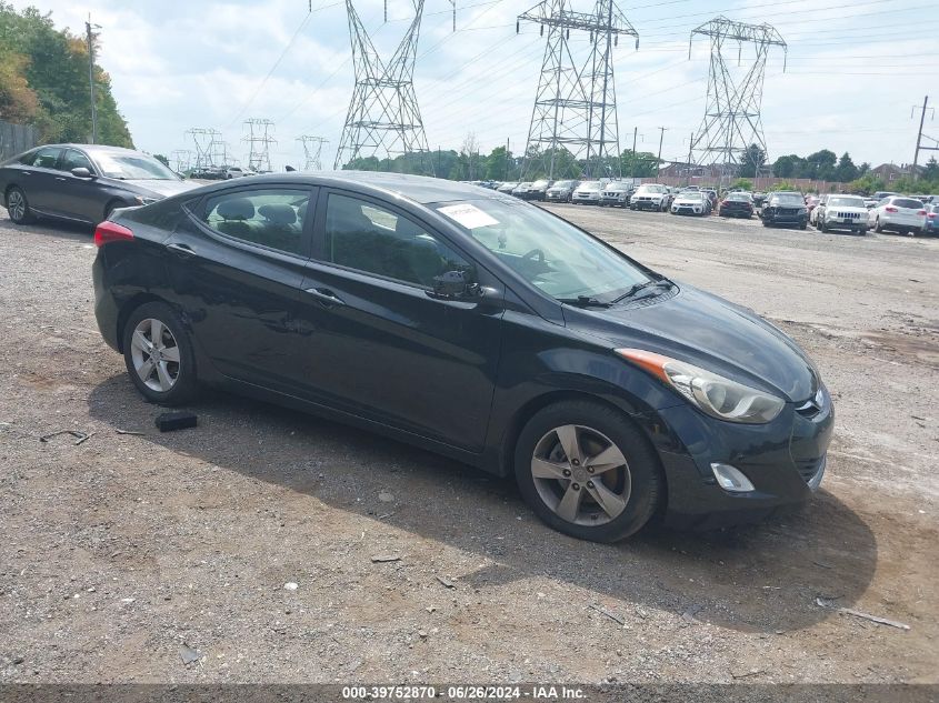
[[[96,144],[48,144],[0,164],[0,203],[17,224],[36,217],[97,224],[117,208],[197,188],[153,157]]]

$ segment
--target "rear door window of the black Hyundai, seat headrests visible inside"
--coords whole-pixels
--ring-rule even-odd
[[[302,255],[310,195],[298,188],[229,191],[209,197],[200,219],[227,237]]]

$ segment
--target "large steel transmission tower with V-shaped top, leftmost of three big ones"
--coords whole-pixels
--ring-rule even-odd
[[[423,0],[412,0],[414,19],[394,54],[382,61],[362,26],[352,0],[346,0],[356,88],[349,103],[342,138],[336,153],[336,168],[357,159],[394,159],[410,155],[412,170],[433,174],[413,76]]]

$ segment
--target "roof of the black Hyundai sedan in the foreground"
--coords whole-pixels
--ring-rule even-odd
[[[317,173],[294,171],[289,173],[264,173],[252,177],[250,183],[251,185],[263,183],[303,183],[308,185],[351,188],[362,193],[391,195],[420,204],[452,200],[500,200],[503,202],[517,202],[510,195],[487,188],[480,188],[479,185],[426,175],[387,173],[383,171],[323,171]],[[231,185],[231,181],[226,181],[214,187],[208,185],[207,188],[223,189]],[[244,184],[238,183],[238,185],[243,187]]]

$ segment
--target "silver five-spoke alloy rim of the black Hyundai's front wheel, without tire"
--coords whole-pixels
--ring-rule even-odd
[[[616,443],[578,424],[555,428],[538,441],[531,476],[542,502],[561,520],[578,525],[616,519],[632,491],[629,465]]]

